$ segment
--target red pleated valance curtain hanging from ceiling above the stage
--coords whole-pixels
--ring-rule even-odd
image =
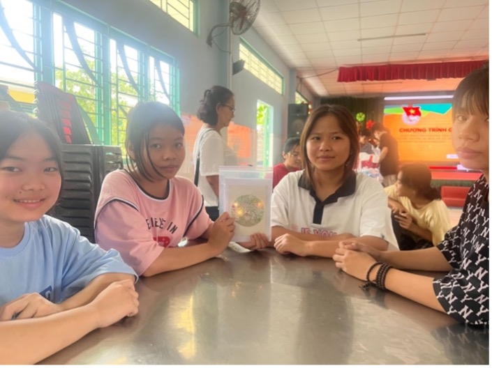
[[[463,78],[481,68],[489,60],[452,63],[389,64],[382,66],[353,66],[338,69],[337,82],[385,81],[394,79]]]

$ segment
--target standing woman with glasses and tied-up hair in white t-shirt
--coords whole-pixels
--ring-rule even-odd
[[[237,165],[237,155],[225,143],[221,130],[234,118],[234,93],[223,86],[213,86],[203,94],[197,116],[203,121],[193,147],[195,185],[203,194],[211,220],[218,218],[218,167]]]

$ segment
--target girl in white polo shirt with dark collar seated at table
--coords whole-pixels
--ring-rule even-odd
[[[278,252],[331,257],[346,238],[380,250],[397,247],[385,191],[355,174],[359,148],[357,123],[345,107],[323,105],[308,117],[301,135],[304,170],[285,176],[272,194]]]

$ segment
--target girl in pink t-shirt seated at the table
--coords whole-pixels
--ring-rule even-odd
[[[200,190],[187,178],[176,176],[185,157],[179,116],[161,102],[139,103],[128,116],[125,145],[127,169],[107,174],[100,191],[98,243],[119,250],[143,276],[221,254],[234,235],[234,218],[225,212],[212,222]],[[185,237],[208,241],[178,247]]]

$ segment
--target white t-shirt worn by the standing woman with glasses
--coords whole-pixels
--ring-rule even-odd
[[[193,164],[196,165],[198,151],[200,150],[200,174],[198,176],[198,189],[202,192],[205,206],[218,206],[218,199],[207,182],[207,176],[218,175],[219,166],[237,165],[237,155],[227,144],[222,136],[214,129],[202,126],[197,134],[193,147]],[[196,168],[195,168],[196,169]]]

